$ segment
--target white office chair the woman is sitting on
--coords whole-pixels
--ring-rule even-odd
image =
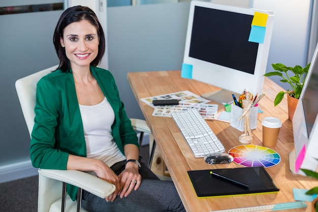
[[[30,135],[34,126],[37,82],[43,76],[56,70],[56,68],[57,66],[53,66],[39,71],[18,79],[15,83],[23,116]],[[132,119],[132,125],[137,131],[151,133],[144,120]],[[140,143],[141,140],[139,141]],[[82,189],[101,198],[106,198],[115,190],[114,185],[82,171],[39,169],[38,211],[75,211],[77,209],[77,211],[87,212],[87,210],[81,208],[81,201],[77,201],[76,204],[76,202],[73,202],[69,195],[66,194],[66,184],[71,184],[79,188],[78,197],[81,196]],[[81,198],[78,198],[78,200],[80,199]]]

